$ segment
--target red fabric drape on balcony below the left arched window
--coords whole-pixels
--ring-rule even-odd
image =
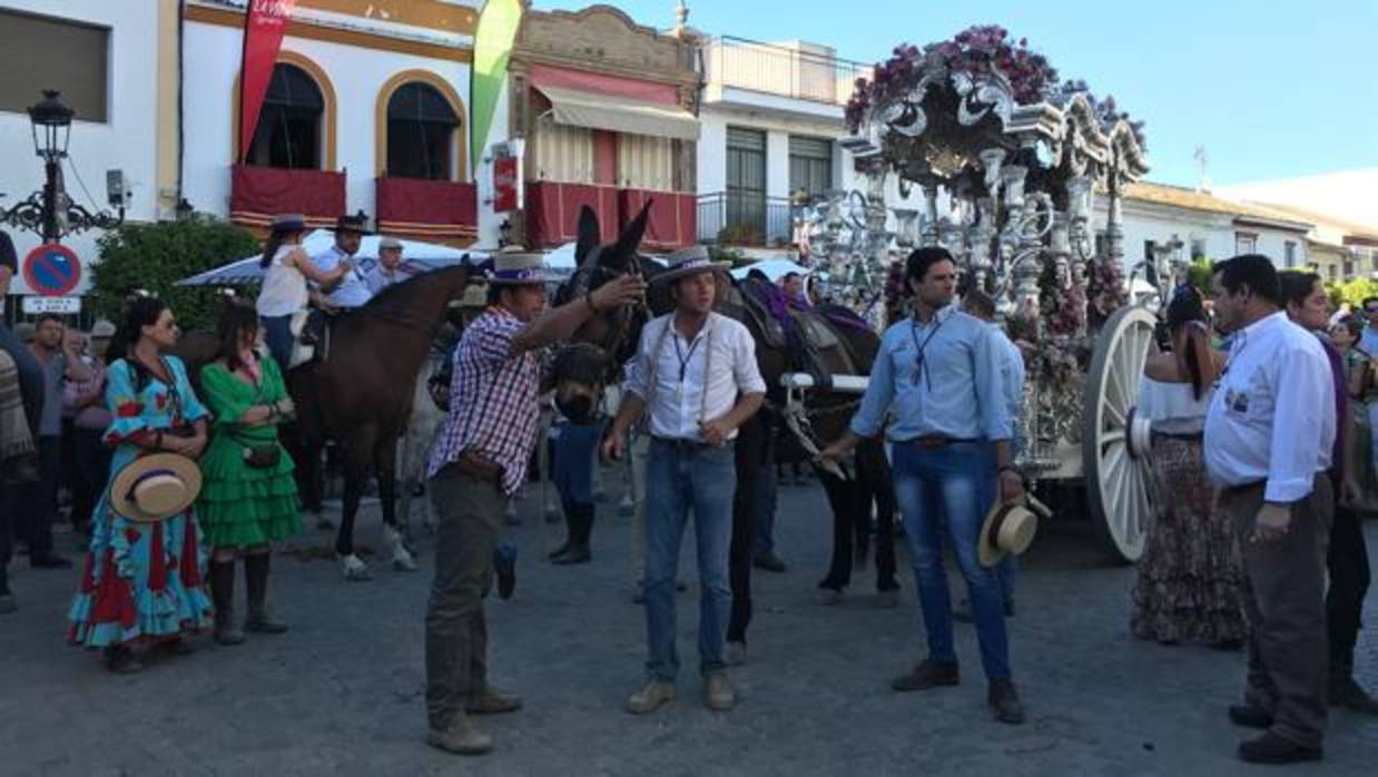
[[[267,226],[276,214],[302,214],[307,226],[332,226],[344,214],[344,174],[234,165],[230,219]]]

